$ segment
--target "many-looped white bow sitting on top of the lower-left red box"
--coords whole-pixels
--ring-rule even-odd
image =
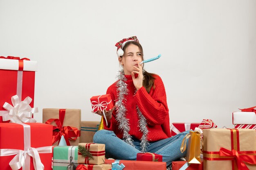
[[[32,99],[27,96],[25,100],[20,102],[17,95],[11,97],[12,105],[5,102],[3,108],[8,110],[9,113],[2,116],[3,121],[10,120],[12,123],[35,123],[36,120],[32,118],[34,113],[38,113],[38,108],[31,108],[29,104]]]

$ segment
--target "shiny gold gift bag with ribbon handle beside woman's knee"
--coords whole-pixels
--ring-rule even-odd
[[[199,132],[190,131],[181,144],[180,151],[183,153],[186,150],[186,140],[189,138],[188,149],[186,151],[186,161],[188,163],[201,163],[200,162],[200,146],[201,138]]]

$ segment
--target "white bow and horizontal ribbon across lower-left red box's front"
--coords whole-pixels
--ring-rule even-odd
[[[1,156],[10,156],[15,155],[13,159],[9,162],[12,170],[18,170],[22,167],[25,170],[25,159],[27,156],[33,158],[35,170],[44,170],[43,163],[41,162],[39,153],[51,153],[52,146],[45,146],[40,148],[31,148],[27,150],[18,150],[18,149],[0,149]],[[29,158],[29,157],[28,157]],[[28,159],[27,158],[27,159]]]

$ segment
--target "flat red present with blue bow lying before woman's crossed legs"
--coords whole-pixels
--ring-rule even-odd
[[[166,162],[149,162],[149,161],[126,161],[126,160],[114,160],[106,159],[105,163],[111,164],[117,162],[123,163],[124,170],[166,170]]]

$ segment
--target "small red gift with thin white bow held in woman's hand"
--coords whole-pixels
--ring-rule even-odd
[[[110,98],[110,94],[104,94],[100,96],[92,96],[90,98],[92,104],[92,111],[96,113],[97,110],[103,111],[106,109],[107,111],[112,109],[113,103]]]

